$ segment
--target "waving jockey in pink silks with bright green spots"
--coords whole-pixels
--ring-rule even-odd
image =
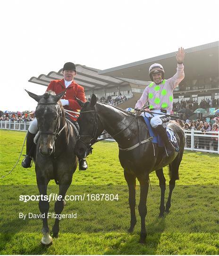
[[[184,48],[181,47],[176,53],[177,73],[167,80],[164,80],[164,69],[162,65],[157,63],[152,64],[149,68],[149,75],[153,82],[144,89],[141,98],[135,105],[135,109],[140,110],[143,108],[146,101],[149,102],[149,110],[152,110],[154,116],[151,119],[151,125],[162,138],[166,147],[167,156],[171,155],[175,150],[170,143],[166,129],[164,128],[164,126],[167,126],[170,118],[156,113],[170,114],[172,111],[173,91],[185,77],[183,65],[184,58],[185,51]],[[137,115],[140,114],[139,110],[136,110]],[[147,113],[143,112],[141,115],[147,116]],[[150,114],[149,116],[151,117]]]

